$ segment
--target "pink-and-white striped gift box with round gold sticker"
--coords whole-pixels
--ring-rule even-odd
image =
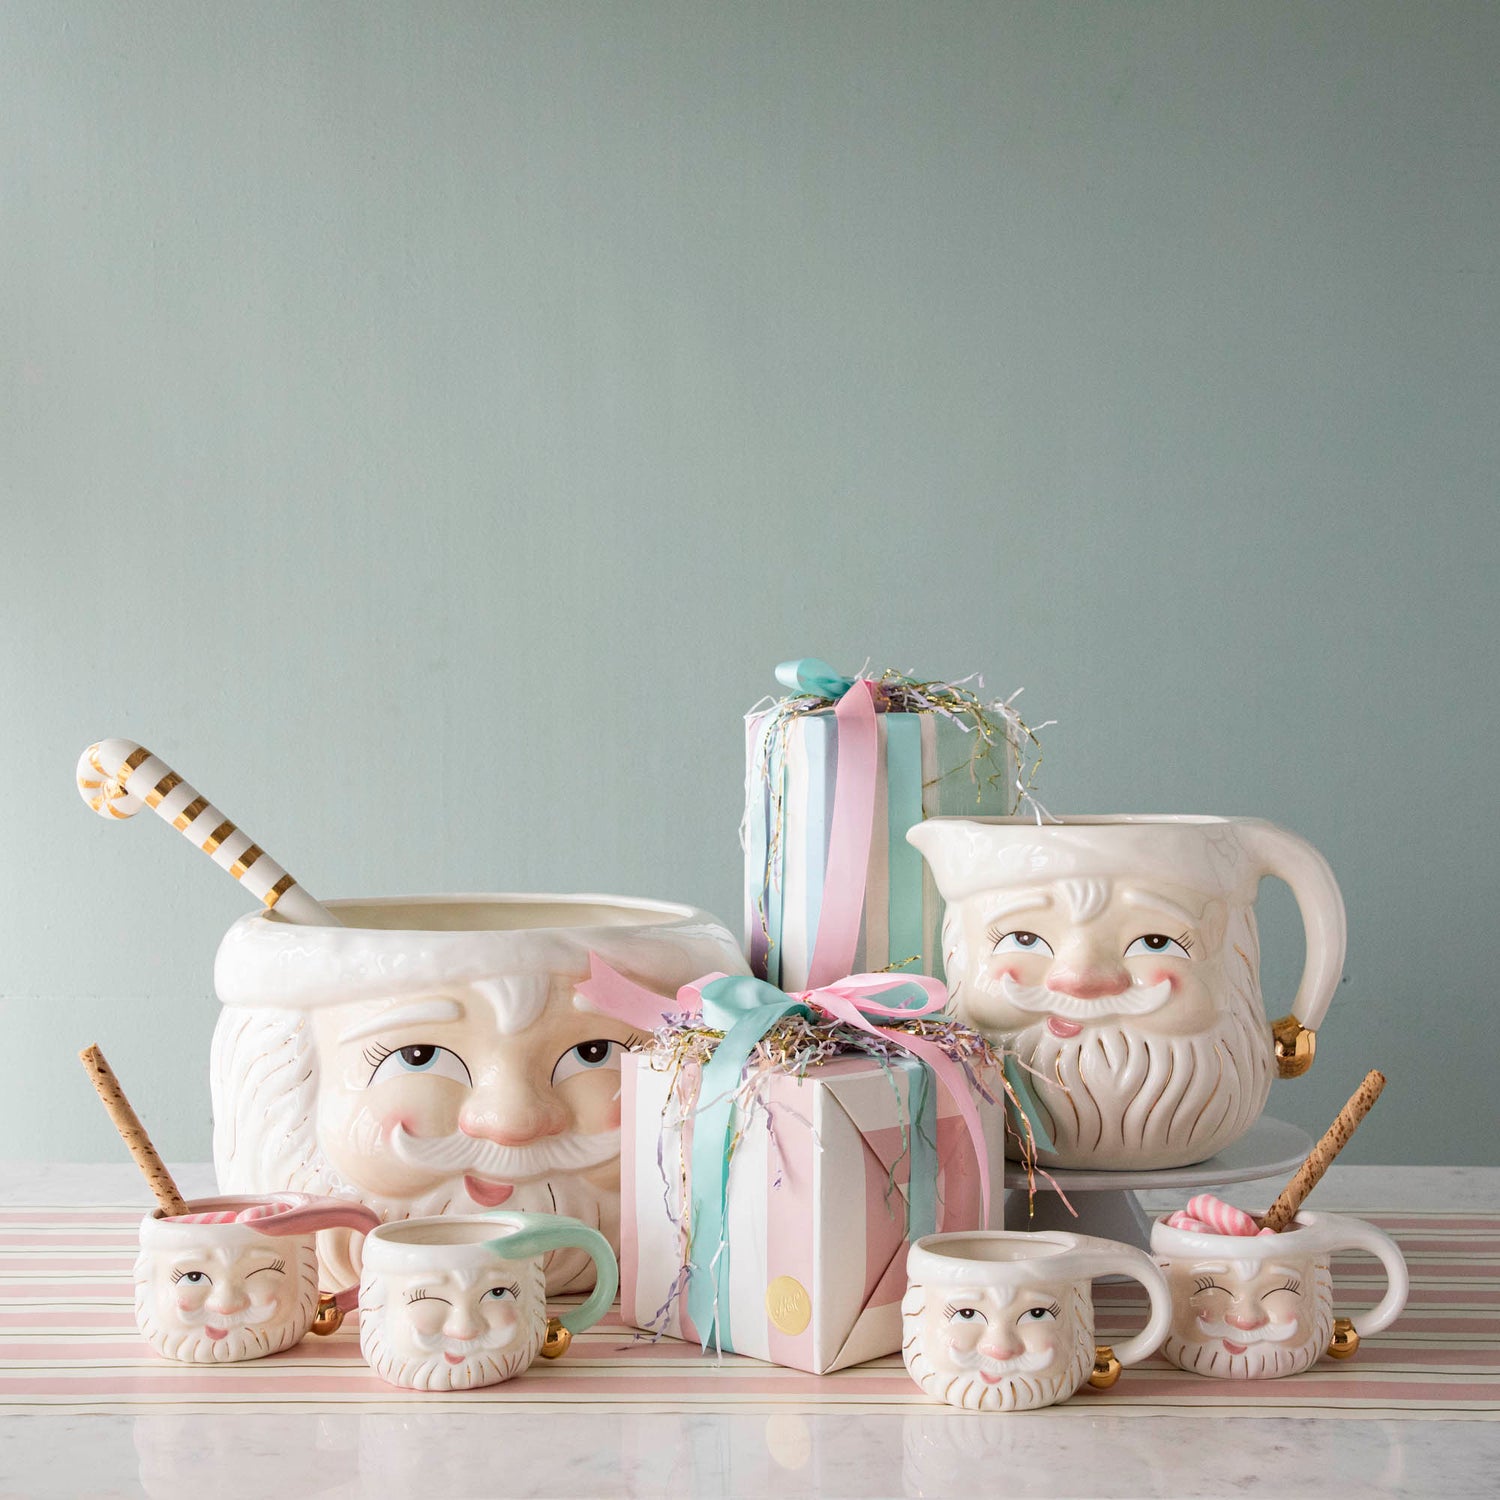
[[[644,1054],[624,1059],[620,1300],[627,1323],[696,1344],[706,1330],[693,1324],[682,1290],[696,1074],[686,1070],[682,1084],[674,1092],[672,1076]],[[738,1119],[728,1276],[718,1278],[728,1282],[724,1352],[826,1374],[900,1348],[909,1086],[904,1071],[846,1058],[804,1077],[774,1076],[750,1118]],[[998,1082],[992,1092],[1004,1098]],[[1005,1119],[1000,1106],[976,1102],[994,1185],[988,1227],[999,1228]],[[980,1228],[974,1144],[940,1084],[936,1136],[938,1227]],[[704,1262],[696,1274],[714,1274],[714,1250],[692,1246]]]

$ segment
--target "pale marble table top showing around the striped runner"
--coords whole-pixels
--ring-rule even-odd
[[[202,1166],[174,1167],[207,1194]],[[1281,1180],[1224,1196],[1263,1208]],[[129,1166],[0,1164],[0,1206],[124,1203]],[[1174,1206],[1167,1192],[1146,1208]],[[1335,1167],[1322,1209],[1500,1210],[1500,1168]],[[297,1455],[302,1455],[300,1460]],[[1174,1413],[952,1422],[874,1416],[496,1413],[0,1419],[0,1497],[1442,1496],[1500,1491],[1500,1422]]]

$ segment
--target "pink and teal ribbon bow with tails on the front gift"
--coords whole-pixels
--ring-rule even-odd
[[[597,954],[590,954],[590,978],[578,986],[578,993],[606,1014],[633,1026],[652,1014],[654,1029],[662,1018],[662,996],[627,980],[610,969]],[[880,1023],[936,1016],[948,1002],[948,992],[936,980],[922,975],[909,978],[891,974],[852,974],[816,990],[786,993],[765,980],[747,975],[710,974],[676,993],[678,1004],[698,1016],[705,1028],[722,1030],[724,1040],[704,1065],[693,1124],[692,1155],[692,1239],[696,1245],[712,1246],[712,1260],[699,1263],[702,1272],[688,1281],[687,1308],[708,1347],[710,1334],[717,1328],[720,1347],[734,1347],[729,1335],[729,1248],[724,1224],[729,1214],[729,1142],[734,1131],[735,1094],[750,1054],[778,1022],[789,1016],[806,1020],[820,1018],[884,1036],[910,1054],[916,1071],[912,1076],[908,1137],[912,1155],[909,1173],[908,1222],[926,1224],[922,1233],[936,1227],[938,1156],[932,1134],[922,1132],[920,1120],[930,1112],[933,1100],[927,1089],[928,1074],[934,1076],[957,1104],[980,1167],[980,1190],[984,1220],[990,1220],[990,1161],[984,1140],[984,1124],[969,1090],[963,1070],[936,1042],[903,1030],[885,1029]]]

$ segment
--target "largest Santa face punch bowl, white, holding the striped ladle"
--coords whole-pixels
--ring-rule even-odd
[[[706,912],[609,896],[328,902],[344,926],[237,921],[214,964],[222,1192],[352,1197],[382,1220],[566,1214],[620,1248],[620,1054],[632,1029],[574,993],[590,952],[663,996],[746,974]],[[357,1244],[320,1236],[330,1286]],[[554,1252],[548,1290],[592,1284]]]

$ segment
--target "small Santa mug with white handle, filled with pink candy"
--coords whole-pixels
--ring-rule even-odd
[[[1158,1220],[1150,1250],[1172,1287],[1162,1354],[1180,1370],[1224,1380],[1294,1376],[1322,1354],[1350,1359],[1365,1334],[1389,1328],[1410,1281],[1395,1240],[1347,1214],[1299,1214],[1280,1234],[1204,1234]],[[1368,1312],[1334,1317],[1329,1262],[1359,1250],[1386,1269]]]

